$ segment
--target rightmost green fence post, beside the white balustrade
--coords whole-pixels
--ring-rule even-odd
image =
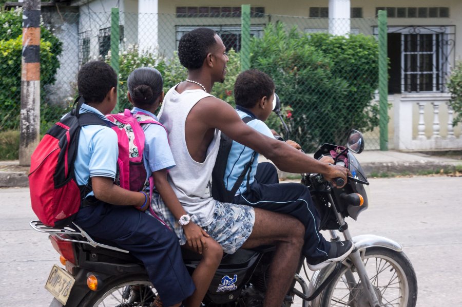
[[[379,28],[379,128],[380,150],[388,150],[387,11],[378,11]]]

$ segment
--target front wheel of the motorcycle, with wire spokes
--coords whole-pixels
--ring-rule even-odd
[[[417,278],[411,261],[402,252],[384,247],[369,247],[361,251],[364,266],[374,287],[380,306],[415,307]],[[369,301],[353,264],[342,266],[334,280],[323,291],[321,306],[369,306]],[[355,282],[347,280],[353,272]],[[351,275],[351,274],[349,274]]]

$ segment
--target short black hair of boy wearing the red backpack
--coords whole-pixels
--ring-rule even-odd
[[[80,68],[77,87],[85,102],[100,103],[111,88],[117,88],[117,74],[109,64],[91,61]]]

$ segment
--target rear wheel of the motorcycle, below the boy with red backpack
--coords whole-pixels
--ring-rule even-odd
[[[88,294],[80,306],[147,307],[156,296],[147,275],[131,275],[109,281],[101,290]]]

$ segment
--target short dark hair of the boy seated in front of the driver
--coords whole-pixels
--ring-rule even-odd
[[[264,96],[268,99],[274,92],[274,82],[269,75],[258,69],[241,72],[234,84],[236,104],[252,108]]]

